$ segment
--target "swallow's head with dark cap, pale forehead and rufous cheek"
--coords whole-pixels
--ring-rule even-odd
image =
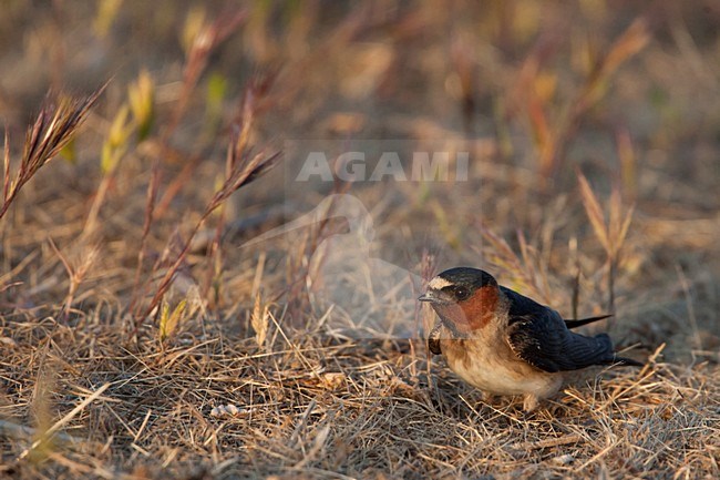
[[[494,318],[500,287],[487,272],[456,267],[431,279],[418,299],[428,302],[454,336],[464,337]]]

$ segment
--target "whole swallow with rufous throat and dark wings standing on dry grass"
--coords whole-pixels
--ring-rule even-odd
[[[570,331],[609,315],[565,320],[481,269],[444,270],[419,300],[430,303],[440,317],[429,335],[430,351],[444,355],[455,374],[485,394],[523,395],[525,411],[555,395],[569,370],[642,366],[618,357],[607,334]]]

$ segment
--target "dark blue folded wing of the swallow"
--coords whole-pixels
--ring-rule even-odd
[[[542,370],[576,370],[615,360],[607,335],[586,337],[567,329],[552,308],[508,288],[501,287],[510,300],[507,341],[520,358]]]

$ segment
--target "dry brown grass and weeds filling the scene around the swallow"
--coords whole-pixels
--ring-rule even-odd
[[[710,2],[6,10],[1,478],[720,477]],[[469,178],[301,184],[297,139],[469,151]],[[363,208],[248,244],[333,193]],[[401,274],[614,309],[647,366],[526,417],[418,338],[348,338],[333,315],[428,321],[372,266],[319,300],[337,258],[357,278],[328,241],[371,231]]]

